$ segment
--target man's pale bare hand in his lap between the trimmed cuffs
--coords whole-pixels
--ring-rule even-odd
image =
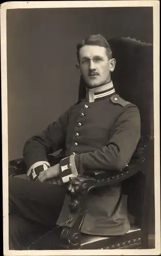
[[[43,170],[43,172],[40,172],[38,176],[38,180],[41,182],[44,182],[45,180],[58,177],[60,174],[59,168],[60,168],[59,164],[56,164],[46,170]]]

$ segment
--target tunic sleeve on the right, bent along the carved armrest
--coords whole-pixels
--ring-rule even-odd
[[[87,170],[118,170],[121,172],[135,151],[140,135],[139,110],[135,105],[128,104],[117,118],[108,144],[94,152],[70,156],[68,167],[74,175],[83,174]],[[61,161],[61,166],[64,166],[64,161],[67,162],[67,159]]]

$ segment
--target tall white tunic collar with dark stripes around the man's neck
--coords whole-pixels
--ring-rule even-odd
[[[87,91],[87,99],[89,100],[89,102],[94,102],[98,99],[102,99],[106,96],[109,96],[115,93],[112,80],[100,87],[96,87],[92,89],[87,88],[86,91]]]

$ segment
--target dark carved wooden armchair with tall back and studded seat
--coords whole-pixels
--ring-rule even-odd
[[[62,249],[139,249],[148,248],[149,207],[154,173],[153,166],[153,49],[151,44],[129,37],[109,40],[116,69],[113,83],[116,92],[125,100],[136,104],[141,114],[141,139],[128,166],[123,172],[86,172],[70,179],[69,221],[61,233]],[[84,98],[86,84],[81,78],[79,99]],[[63,151],[62,151],[63,152]],[[51,165],[63,158],[48,156]],[[25,172],[23,159],[9,163],[9,175]],[[92,236],[80,232],[86,212],[86,198],[91,189],[122,182],[127,196],[128,212],[133,222],[123,236]],[[52,237],[50,238],[52,240]],[[38,249],[38,248],[37,248]],[[54,248],[53,248],[54,249]]]

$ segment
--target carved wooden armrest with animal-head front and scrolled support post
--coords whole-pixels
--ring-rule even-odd
[[[61,246],[65,249],[78,249],[81,245],[81,226],[87,210],[87,197],[91,189],[108,186],[129,178],[142,170],[144,158],[132,158],[122,172],[93,171],[78,175],[69,180],[68,192],[70,196],[70,216],[63,226]]]

